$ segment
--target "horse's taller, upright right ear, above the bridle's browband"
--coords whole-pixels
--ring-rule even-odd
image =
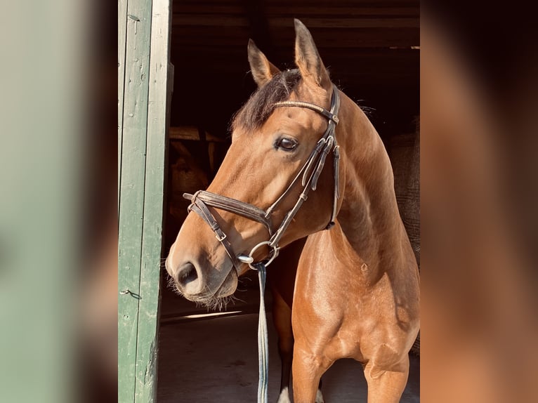
[[[320,53],[314,44],[310,31],[303,22],[294,19],[295,23],[295,64],[306,81],[311,81],[326,90],[331,88],[329,72],[325,69]]]

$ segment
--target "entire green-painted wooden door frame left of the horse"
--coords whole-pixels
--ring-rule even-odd
[[[118,402],[154,402],[171,0],[118,1]]]

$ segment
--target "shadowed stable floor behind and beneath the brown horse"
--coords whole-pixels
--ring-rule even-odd
[[[159,331],[158,403],[256,401],[258,291],[248,287],[240,293],[240,298],[243,301],[228,307],[223,316],[207,316],[206,310],[164,290]],[[270,306],[270,293],[265,300]],[[268,397],[269,402],[276,402],[280,358],[271,320],[269,313]],[[400,400],[402,403],[420,401],[420,359],[415,355],[409,358],[409,381]],[[337,361],[324,374],[322,390],[327,403],[367,402],[362,366],[353,359]]]

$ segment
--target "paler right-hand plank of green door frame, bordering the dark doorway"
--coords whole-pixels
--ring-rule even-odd
[[[159,278],[170,59],[170,0],[153,0],[147,106],[144,220],[138,305],[135,402],[157,397]]]

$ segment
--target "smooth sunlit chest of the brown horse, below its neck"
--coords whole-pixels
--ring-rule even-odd
[[[307,315],[317,329],[355,340],[382,331],[398,331],[411,321],[387,272],[380,273],[357,258],[346,259],[327,248],[327,232],[309,237],[297,269],[294,310]],[[362,263],[361,263],[362,262]]]

